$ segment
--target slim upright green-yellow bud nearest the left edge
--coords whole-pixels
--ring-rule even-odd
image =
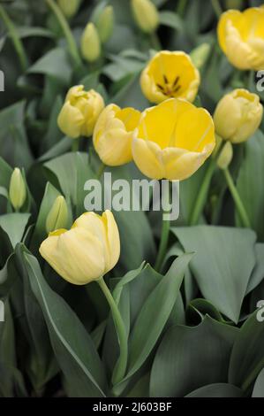
[[[26,184],[18,167],[16,167],[11,174],[9,199],[16,211],[18,211],[26,201]]]

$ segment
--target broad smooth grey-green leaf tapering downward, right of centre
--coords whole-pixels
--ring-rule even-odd
[[[238,322],[255,266],[252,230],[229,227],[172,228],[185,251],[194,251],[191,270],[202,295],[230,320]]]

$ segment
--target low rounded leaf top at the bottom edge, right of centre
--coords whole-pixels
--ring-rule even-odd
[[[223,382],[209,384],[192,391],[185,397],[242,397],[243,391],[233,384]]]

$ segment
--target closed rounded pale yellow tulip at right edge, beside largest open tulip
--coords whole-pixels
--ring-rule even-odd
[[[215,131],[231,143],[245,142],[260,127],[262,115],[259,96],[246,89],[234,89],[216,106]]]

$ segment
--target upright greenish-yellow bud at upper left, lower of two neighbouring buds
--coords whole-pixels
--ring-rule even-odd
[[[80,49],[88,62],[96,61],[101,55],[101,41],[94,23],[88,23],[81,36]]]

